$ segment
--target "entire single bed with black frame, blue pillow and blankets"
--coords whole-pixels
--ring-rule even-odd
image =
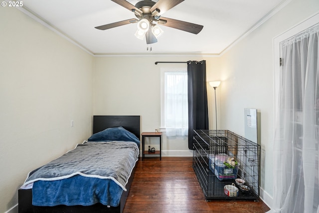
[[[19,213],[122,213],[138,164],[140,134],[140,116],[93,116],[87,141],[28,174],[18,190]],[[88,166],[88,159],[95,162]],[[119,174],[113,175],[115,170]]]

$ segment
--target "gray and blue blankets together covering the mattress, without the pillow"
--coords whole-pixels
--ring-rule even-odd
[[[118,206],[138,156],[133,142],[79,144],[30,172],[23,186],[33,183],[34,206]]]

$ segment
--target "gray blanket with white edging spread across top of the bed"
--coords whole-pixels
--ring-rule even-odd
[[[125,185],[138,160],[139,148],[133,142],[88,142],[29,173],[23,187],[36,181],[62,180],[81,175],[111,179],[126,191]]]

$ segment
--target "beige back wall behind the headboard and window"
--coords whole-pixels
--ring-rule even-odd
[[[186,63],[159,63],[156,61],[206,60],[207,80],[216,80],[219,64],[216,57],[146,56],[96,57],[94,73],[95,115],[141,115],[142,132],[154,131],[160,126],[160,68],[187,67]],[[208,98],[213,98],[208,88]],[[211,101],[209,101],[211,103]],[[209,105],[209,112],[215,112]],[[209,114],[214,116],[214,114]],[[158,142],[152,141],[154,147]],[[188,139],[162,137],[163,156],[191,156]]]

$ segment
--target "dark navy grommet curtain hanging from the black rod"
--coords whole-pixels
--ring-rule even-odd
[[[193,132],[208,129],[206,61],[188,61],[188,149],[193,150]]]

